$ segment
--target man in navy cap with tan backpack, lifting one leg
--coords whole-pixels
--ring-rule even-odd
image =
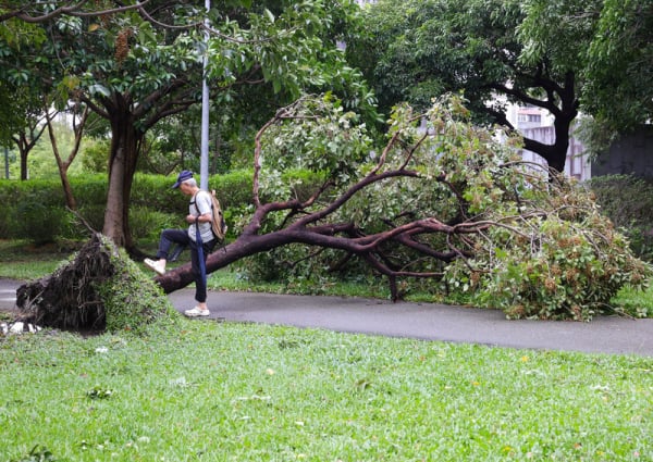
[[[188,230],[163,229],[159,241],[157,260],[145,259],[145,264],[161,275],[165,274],[165,263],[172,245],[189,246],[193,275],[195,276],[195,300],[197,304],[195,308],[184,311],[184,314],[188,317],[208,316],[210,311],[207,307],[206,271],[202,270],[206,269],[208,254],[217,244],[211,230],[211,221],[213,220],[211,197],[209,192],[199,189],[197,182],[193,177],[193,172],[187,170],[180,173],[176,183],[172,187],[175,189],[178,188],[182,193],[190,197],[188,215],[186,215],[186,223],[190,226],[188,226]],[[198,228],[201,240],[201,252],[199,252],[200,248],[197,238]]]

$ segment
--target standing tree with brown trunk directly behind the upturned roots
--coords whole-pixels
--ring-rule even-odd
[[[38,49],[19,52],[4,45],[11,60],[3,58],[3,65],[27,70],[109,121],[109,193],[102,233],[118,245],[135,250],[128,203],[145,134],[159,121],[198,103],[205,50],[215,93],[270,85],[291,98],[313,85],[352,88],[352,101],[368,103],[365,88],[349,85],[357,74],[346,67],[335,43],[320,40],[332,17],[343,14],[343,5],[356,11],[350,2],[328,7],[311,0],[282,7],[270,2],[278,8],[276,15],[264,4],[250,3],[219,3],[210,14],[208,43],[204,9],[151,0],[143,2],[145,7],[116,8],[100,16],[78,10],[58,14],[39,23],[49,40]],[[30,15],[48,17],[48,11]]]

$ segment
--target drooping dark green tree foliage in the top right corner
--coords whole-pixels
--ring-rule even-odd
[[[557,54],[582,68],[581,108],[596,132],[625,133],[651,121],[653,3],[529,0],[527,18],[520,27],[525,58],[534,62],[564,47]]]

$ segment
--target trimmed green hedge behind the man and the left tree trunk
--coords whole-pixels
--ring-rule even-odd
[[[300,178],[306,173],[295,174]],[[139,174],[135,178],[130,208],[131,228],[136,239],[157,240],[162,228],[185,226],[182,221],[187,198],[171,189],[173,176]],[[295,182],[297,193],[301,180]],[[81,215],[95,230],[101,230],[107,203],[107,178],[102,174],[71,177],[77,211],[65,210],[61,183],[58,179],[0,182],[0,238],[30,239],[35,244],[61,239],[86,239],[88,230],[79,223]],[[251,174],[248,171],[214,175],[209,186],[217,190],[231,224],[251,202]],[[231,230],[231,233],[235,233]]]

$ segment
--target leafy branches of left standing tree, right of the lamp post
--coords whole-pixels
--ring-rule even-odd
[[[358,30],[355,2],[261,3],[242,8],[239,13],[220,12],[213,18],[213,27],[221,34],[209,39],[209,75],[220,87],[237,84],[259,67],[257,74],[282,101],[307,91],[332,90],[349,109],[375,115],[373,95],[335,47],[345,34]],[[230,36],[238,40],[230,40]]]

